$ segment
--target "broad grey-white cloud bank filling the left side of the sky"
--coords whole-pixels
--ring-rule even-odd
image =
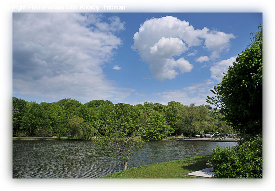
[[[102,67],[122,41],[119,17],[100,14],[13,13],[13,93],[123,99],[131,90],[106,79]]]

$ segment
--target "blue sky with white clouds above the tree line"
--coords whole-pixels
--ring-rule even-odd
[[[13,96],[208,104],[262,13],[13,13]]]

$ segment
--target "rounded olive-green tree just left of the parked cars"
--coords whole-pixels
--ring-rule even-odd
[[[194,103],[190,106],[184,106],[178,117],[180,121],[177,123],[180,129],[189,133],[189,138],[200,131],[206,123],[208,109],[204,105],[196,107]]]

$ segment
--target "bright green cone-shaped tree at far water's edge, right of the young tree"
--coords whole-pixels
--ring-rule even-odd
[[[174,129],[166,124],[165,117],[160,111],[152,110],[145,121],[144,131],[142,137],[145,139],[161,140],[166,138],[167,134],[173,133]]]

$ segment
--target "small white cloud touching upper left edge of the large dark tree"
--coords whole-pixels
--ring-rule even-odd
[[[220,62],[215,63],[214,66],[211,66],[211,78],[214,80],[222,81],[222,78],[224,77],[223,73],[226,73],[229,66],[233,65],[233,62],[235,62],[237,56],[231,57],[227,60],[222,60]]]

